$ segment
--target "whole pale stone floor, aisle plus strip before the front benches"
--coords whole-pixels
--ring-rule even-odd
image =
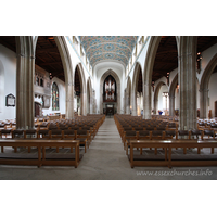
[[[217,167],[130,168],[113,118],[106,118],[78,168],[0,165],[1,180],[215,180]]]

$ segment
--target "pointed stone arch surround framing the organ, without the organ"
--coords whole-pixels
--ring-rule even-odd
[[[108,69],[102,75],[100,79],[100,93],[103,92],[103,82],[108,75],[112,75],[114,77],[117,85],[117,113],[120,114],[120,80],[118,75],[114,71]],[[103,94],[100,94],[100,113],[103,114]]]

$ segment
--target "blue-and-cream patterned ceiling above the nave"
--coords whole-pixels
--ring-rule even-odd
[[[119,61],[125,66],[131,56],[138,36],[79,36],[93,66],[99,61]]]

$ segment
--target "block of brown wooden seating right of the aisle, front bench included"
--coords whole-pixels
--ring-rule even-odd
[[[114,116],[131,168],[217,166],[214,129],[179,130],[174,119]],[[209,150],[209,151],[208,151]]]

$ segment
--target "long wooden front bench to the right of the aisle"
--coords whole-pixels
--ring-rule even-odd
[[[217,148],[216,140],[130,140],[130,155],[129,161],[131,168],[135,166],[217,166],[217,156],[212,155],[213,149]],[[142,148],[155,148],[163,149],[163,155],[135,155],[133,149]],[[194,154],[194,156],[188,156],[186,151],[179,156],[173,155],[173,149],[181,148],[187,150],[188,148],[196,148],[201,150],[203,148],[210,148],[210,155]]]

